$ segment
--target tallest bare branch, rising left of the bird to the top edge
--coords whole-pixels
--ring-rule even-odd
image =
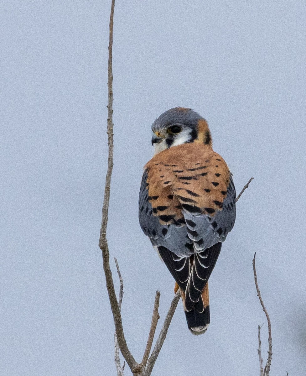
[[[111,176],[113,168],[114,158],[114,139],[113,139],[113,74],[112,74],[112,45],[113,45],[113,27],[114,27],[114,9],[115,0],[112,0],[111,15],[109,18],[109,45],[108,45],[108,119],[107,119],[107,134],[108,134],[108,169],[105,177],[105,191],[102,208],[102,221],[100,229],[99,247],[103,256],[103,269],[106,279],[106,288],[108,290],[109,302],[111,303],[112,314],[114,317],[114,323],[117,333],[118,346],[121,353],[126,359],[127,364],[131,368],[132,372],[137,371],[139,364],[135,361],[130,350],[127,347],[126,340],[124,338],[121,314],[117,302],[117,297],[114,288],[114,282],[112,279],[111,268],[109,267],[109,250],[108,242],[106,238],[106,227],[108,223],[108,207],[109,196],[111,191]]]

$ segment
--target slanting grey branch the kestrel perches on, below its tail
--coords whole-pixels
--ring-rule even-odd
[[[172,317],[173,317],[175,309],[177,307],[177,303],[179,303],[179,300],[180,300],[180,290],[177,291],[177,293],[175,294],[175,296],[174,296],[174,298],[171,302],[169,311],[167,313],[164,324],[162,326],[162,330],[159,333],[159,336],[158,336],[158,339],[157,339],[156,344],[154,346],[154,349],[153,349],[151,356],[148,360],[148,364],[147,364],[147,368],[145,369],[144,376],[150,376],[151,375],[151,372],[152,372],[152,369],[153,369],[154,364],[156,362],[156,359],[158,357],[158,354],[161,351],[162,345],[165,341],[165,338],[166,338]]]

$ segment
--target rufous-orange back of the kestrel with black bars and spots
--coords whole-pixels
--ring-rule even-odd
[[[186,143],[170,147],[146,165],[153,215],[161,224],[184,224],[183,209],[213,217],[222,210],[230,171],[211,146]]]

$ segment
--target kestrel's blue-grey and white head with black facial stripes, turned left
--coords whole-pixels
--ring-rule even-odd
[[[172,146],[201,143],[211,146],[208,124],[190,108],[175,107],[161,114],[152,125],[154,154]]]

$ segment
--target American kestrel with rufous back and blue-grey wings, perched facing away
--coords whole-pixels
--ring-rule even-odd
[[[210,321],[208,279],[235,223],[235,186],[196,112],[172,108],[152,131],[155,153],[144,167],[139,223],[176,280],[188,328],[198,335]]]

